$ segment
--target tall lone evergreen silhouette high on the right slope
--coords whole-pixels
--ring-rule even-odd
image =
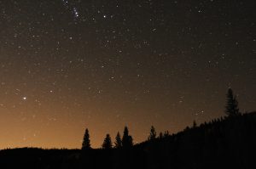
[[[227,96],[227,103],[225,106],[225,114],[229,116],[239,115],[238,102],[236,100],[236,96],[234,97],[233,91],[229,88]]]

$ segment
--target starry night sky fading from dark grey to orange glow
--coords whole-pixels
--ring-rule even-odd
[[[0,1],[0,149],[94,148],[256,110],[254,0]]]

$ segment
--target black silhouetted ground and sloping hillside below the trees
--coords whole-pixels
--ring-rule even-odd
[[[0,168],[256,168],[256,113],[187,127],[131,149],[4,149]]]

